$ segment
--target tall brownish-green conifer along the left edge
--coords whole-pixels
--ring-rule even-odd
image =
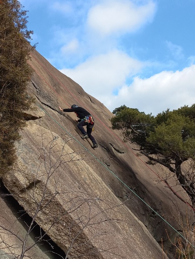
[[[17,0],[0,3],[0,174],[16,159],[14,142],[26,125],[23,111],[34,101],[26,88],[33,74],[27,63],[32,31],[27,30],[26,14]]]

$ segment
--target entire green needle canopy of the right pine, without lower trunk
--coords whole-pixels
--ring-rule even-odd
[[[123,108],[111,118],[112,129],[122,130],[124,141],[137,144],[149,154],[160,154],[182,161],[195,153],[195,105],[174,111],[163,111],[157,116]]]

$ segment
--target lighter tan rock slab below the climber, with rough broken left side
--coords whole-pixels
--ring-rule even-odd
[[[145,226],[125,205],[119,206],[121,202],[96,174],[93,164],[86,163],[85,159],[88,160],[88,157],[83,155],[82,149],[75,153],[68,146],[67,140],[69,142],[74,140],[63,140],[56,133],[32,122],[29,122],[28,127],[23,130],[22,136],[23,139],[17,149],[18,162],[13,171],[5,175],[2,180],[10,192],[17,195],[16,199],[31,216],[35,213],[36,203],[43,197],[43,190],[47,185],[47,197],[43,200],[43,205],[50,199],[51,201],[41,210],[36,221],[44,231],[49,229],[48,235],[59,247],[67,251],[71,242],[69,227],[78,220],[77,214],[89,217],[87,207],[90,204],[90,217],[97,214],[93,224],[99,230],[92,234],[89,227],[85,228],[75,240],[76,247],[71,249],[71,256],[82,255],[83,259],[89,258],[89,254],[86,254],[86,245],[80,245],[87,242],[88,246],[101,250],[113,248],[112,253],[91,254],[90,258],[119,258],[113,253],[126,258],[162,257],[160,247]],[[61,168],[59,165],[62,163],[64,164]],[[89,195],[93,196],[93,202],[88,201],[78,208],[76,213],[65,213],[71,204],[70,200],[75,197],[76,201],[78,196],[80,199],[84,197],[88,199]],[[108,204],[119,207],[107,211]],[[57,217],[60,217],[60,220],[53,224]],[[113,220],[109,221],[110,218]],[[81,230],[81,225],[71,230],[71,236],[76,235],[78,228]],[[102,228],[108,232],[106,235],[105,232],[98,234]]]

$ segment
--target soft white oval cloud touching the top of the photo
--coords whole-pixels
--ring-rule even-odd
[[[107,0],[92,7],[88,13],[88,26],[100,35],[132,32],[151,22],[156,10],[153,1],[136,5],[129,0]]]

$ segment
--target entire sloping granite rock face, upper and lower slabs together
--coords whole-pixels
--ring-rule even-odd
[[[177,214],[185,204],[158,183],[166,170],[156,165],[154,174],[146,159],[141,161],[133,146],[124,145],[119,132],[110,129],[113,114],[36,51],[31,64],[35,73],[28,89],[41,115],[29,115],[22,130],[17,164],[2,177],[8,191],[31,217],[38,206],[35,221],[64,252],[74,240],[70,256],[162,258],[161,238],[166,247],[165,229],[170,238],[176,236],[174,230],[123,183],[160,215]],[[89,139],[80,138],[75,114],[58,109],[73,103],[95,118],[95,150]],[[182,188],[174,190],[189,201]],[[175,227],[173,220],[169,223]]]

